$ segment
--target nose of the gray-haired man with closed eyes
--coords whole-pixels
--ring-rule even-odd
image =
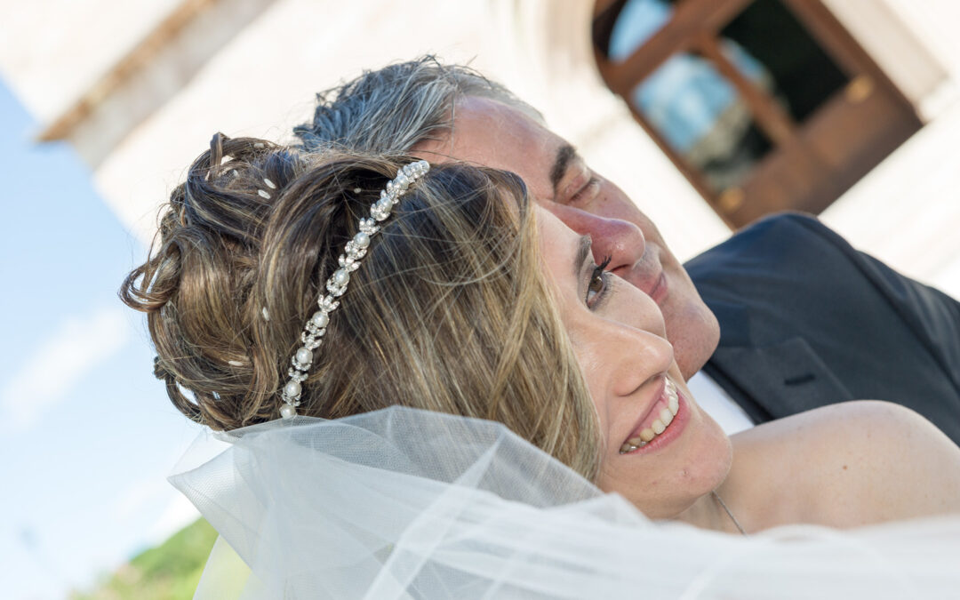
[[[601,217],[573,206],[555,203],[544,208],[556,215],[566,227],[583,235],[588,233],[593,245],[593,259],[600,261],[611,257],[608,269],[617,275],[630,270],[643,258],[646,240],[635,224],[622,219]]]

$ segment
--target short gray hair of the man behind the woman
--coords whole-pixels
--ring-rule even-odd
[[[468,66],[433,56],[399,62],[317,94],[313,121],[294,128],[308,152],[408,153],[449,132],[456,103],[490,98],[542,121],[540,112]]]

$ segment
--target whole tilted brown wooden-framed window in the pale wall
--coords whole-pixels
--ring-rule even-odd
[[[599,0],[600,73],[732,228],[819,213],[921,128],[818,0]]]

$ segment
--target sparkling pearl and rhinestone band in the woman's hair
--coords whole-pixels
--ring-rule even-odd
[[[407,188],[430,170],[430,163],[426,160],[411,162],[402,167],[396,174],[396,178],[387,181],[386,188],[380,190],[380,198],[370,207],[370,217],[360,219],[360,231],[353,236],[353,239],[347,242],[344,252],[340,254],[337,262],[340,268],[333,272],[333,275],[326,280],[326,291],[329,294],[321,294],[317,300],[320,310],[315,312],[310,320],[303,327],[300,334],[300,341],[303,346],[297,349],[297,352],[290,359],[292,367],[287,371],[290,380],[283,386],[280,396],[283,397],[283,406],[280,407],[280,416],[283,419],[291,419],[297,415],[297,407],[300,406],[300,393],[302,392],[301,383],[307,378],[307,372],[313,363],[313,351],[320,347],[326,333],[326,325],[330,323],[330,313],[340,306],[340,301],[336,300],[347,291],[347,285],[350,280],[350,274],[360,268],[360,259],[367,254],[371,239],[376,235],[380,228],[376,225],[386,220],[394,206],[400,202]]]

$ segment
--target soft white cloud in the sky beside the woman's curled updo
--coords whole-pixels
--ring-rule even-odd
[[[130,327],[121,307],[72,316],[39,343],[0,392],[0,408],[12,426],[25,429],[98,365],[123,347]]]

